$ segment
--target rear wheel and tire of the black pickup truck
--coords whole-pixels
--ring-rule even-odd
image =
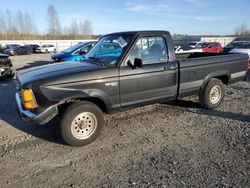
[[[201,90],[199,102],[204,108],[213,109],[220,105],[224,96],[225,90],[222,81],[213,78]]]

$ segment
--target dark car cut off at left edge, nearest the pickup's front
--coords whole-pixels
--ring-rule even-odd
[[[14,76],[11,59],[7,54],[0,54],[0,78],[13,78]]]

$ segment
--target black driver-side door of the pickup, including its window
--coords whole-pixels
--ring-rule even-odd
[[[142,67],[131,66],[135,58]],[[177,72],[170,65],[163,36],[139,38],[120,66],[121,107],[175,98]]]

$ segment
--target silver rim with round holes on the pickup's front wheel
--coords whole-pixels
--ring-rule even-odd
[[[97,119],[90,112],[83,112],[77,115],[71,123],[71,132],[77,139],[89,138],[97,128]]]

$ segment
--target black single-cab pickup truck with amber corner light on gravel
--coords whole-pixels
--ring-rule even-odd
[[[167,31],[103,36],[81,62],[18,73],[20,116],[46,124],[55,116],[69,145],[96,139],[103,113],[198,95],[205,108],[223,100],[224,85],[243,80],[248,55],[193,53],[176,57]]]

